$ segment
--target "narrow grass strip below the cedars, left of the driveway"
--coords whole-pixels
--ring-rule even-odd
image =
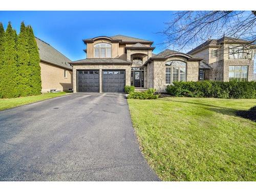
[[[65,92],[58,92],[58,93],[44,93],[41,95],[29,96],[29,97],[18,97],[13,99],[0,99],[0,111],[14,108],[15,106],[24,105],[40,100],[45,100],[53,97],[58,97],[61,95],[65,95]]]

